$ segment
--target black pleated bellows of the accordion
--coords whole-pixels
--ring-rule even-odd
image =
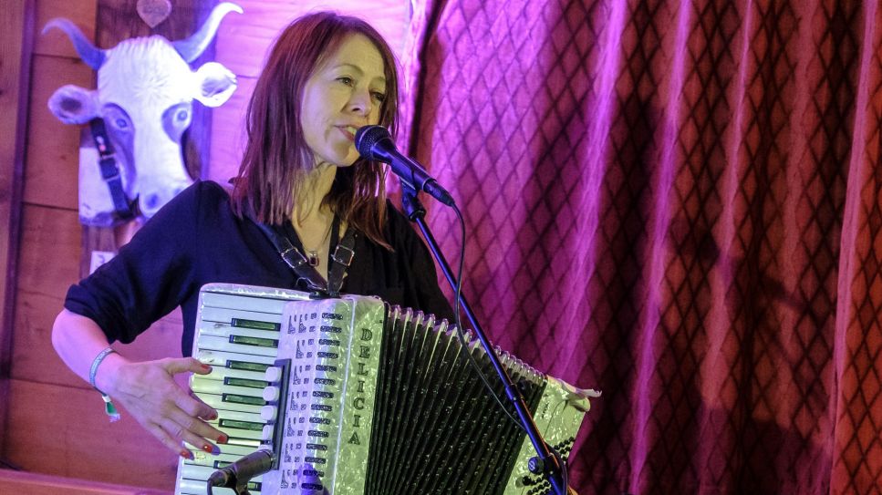
[[[498,383],[483,347],[471,339],[462,345],[446,325],[433,324],[397,307],[387,315],[367,494],[501,493],[523,441],[469,363],[471,354]],[[542,380],[531,379],[532,370],[507,367],[533,410]],[[505,397],[501,384],[494,391]]]

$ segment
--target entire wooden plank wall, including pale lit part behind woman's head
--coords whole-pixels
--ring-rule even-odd
[[[7,313],[12,319],[12,325],[0,328],[0,365],[8,366],[5,373],[0,367],[0,426],[5,418],[5,426],[0,429],[0,466],[6,463],[53,477],[170,491],[177,464],[175,454],[162,448],[125,412],[122,420],[109,424],[99,395],[67,370],[50,343],[52,323],[67,287],[78,280],[83,230],[77,211],[79,129],[55,119],[47,109],[47,99],[66,84],[84,88],[94,88],[95,84],[94,71],[79,60],[67,36],[57,30],[41,36],[40,31],[48,19],[67,17],[87,37],[98,39],[99,46],[112,46],[113,34],[99,27],[110,18],[107,9],[119,9],[120,5],[130,8],[134,3],[26,0],[20,4],[23,10],[0,13],[5,21],[0,25],[0,111],[14,115],[21,101],[25,109],[21,120],[26,120],[26,125],[13,129],[22,136],[24,152],[19,155],[25,157],[19,168],[22,180],[17,182],[22,184],[22,193],[17,199],[9,193],[16,183],[12,160],[16,155],[15,139],[7,139],[9,120],[0,123],[4,126],[0,127],[0,232],[8,234],[12,247],[7,253],[5,246],[0,246],[0,263],[5,263],[9,253],[19,253],[12,260],[17,277],[7,273],[0,279],[0,295],[9,293]],[[176,0],[172,5],[185,3]],[[210,149],[211,160],[202,164],[202,177],[220,182],[234,175],[241,156],[244,108],[266,47],[291,19],[318,4],[289,0],[237,3],[243,6],[244,15],[230,14],[224,19],[217,37],[216,59],[237,74],[239,88],[229,102],[213,110],[210,148],[203,143]],[[327,0],[321,4],[361,15],[377,26],[395,48],[402,45],[405,0],[352,3],[356,6]],[[0,3],[7,4],[17,7],[19,2]],[[36,17],[32,23],[24,20],[26,5],[32,6]],[[6,29],[16,24],[17,31]],[[31,75],[31,84],[19,98],[17,93],[9,92],[15,85],[7,80],[7,74],[12,73],[6,67],[8,60],[16,57],[16,50],[26,53],[30,49],[29,38],[33,38],[33,54],[10,76]],[[20,235],[3,230],[16,215],[22,219]],[[181,325],[181,316],[175,312],[141,335],[135,344],[115,347],[133,359],[180,356]]]

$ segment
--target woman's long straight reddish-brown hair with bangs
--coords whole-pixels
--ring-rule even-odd
[[[290,220],[306,173],[314,166],[300,125],[306,80],[347,36],[357,34],[366,36],[383,57],[387,83],[379,125],[394,135],[398,71],[383,37],[358,17],[318,12],[296,19],[275,41],[248,104],[248,139],[233,185],[233,208],[238,214],[250,207],[258,222]],[[386,170],[380,163],[359,158],[351,167],[338,168],[323,205],[371,241],[391,249],[382,229]]]

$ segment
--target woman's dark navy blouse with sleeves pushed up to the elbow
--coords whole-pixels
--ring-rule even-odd
[[[404,215],[390,203],[387,211],[394,252],[358,235],[341,292],[452,320],[429,250]],[[254,222],[233,213],[227,192],[204,180],[165,205],[109,263],[71,285],[65,307],[94,320],[110,342],[129,343],[180,305],[181,350],[190,356],[199,289],[211,283],[303,289]]]

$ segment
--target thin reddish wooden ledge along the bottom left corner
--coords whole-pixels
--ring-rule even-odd
[[[161,490],[150,490],[127,485],[62,478],[10,469],[0,469],[0,486],[5,493],[39,493],[40,495],[162,495]]]

